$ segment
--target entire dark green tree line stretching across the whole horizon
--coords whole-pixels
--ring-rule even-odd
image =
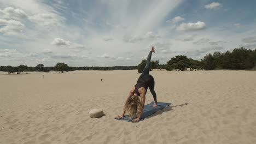
[[[114,66],[114,67],[69,67],[65,63],[57,63],[55,67],[44,67],[44,64],[38,64],[36,67],[27,67],[27,65],[19,65],[18,67],[0,66],[0,71],[7,71],[10,73],[21,73],[23,71],[74,71],[74,70],[133,70],[137,69],[138,73],[142,73],[146,59],[143,59],[141,63],[136,66]],[[201,61],[188,58],[184,55],[178,55],[166,62],[167,64],[159,64],[159,61],[152,61],[150,64],[150,70],[152,69],[166,69],[184,71],[189,70],[216,70],[216,69],[255,69],[256,68],[256,49],[248,50],[244,47],[240,47],[232,50],[232,52],[214,52],[209,53]]]

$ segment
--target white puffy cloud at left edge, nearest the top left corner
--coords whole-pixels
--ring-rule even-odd
[[[14,9],[7,7],[3,10],[0,9],[0,17],[4,19],[27,19],[27,14],[21,9]]]

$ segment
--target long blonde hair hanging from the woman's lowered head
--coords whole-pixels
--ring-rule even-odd
[[[129,113],[129,118],[133,118],[141,113],[141,100],[138,96],[132,95],[129,99],[126,100],[124,110],[125,112]]]

